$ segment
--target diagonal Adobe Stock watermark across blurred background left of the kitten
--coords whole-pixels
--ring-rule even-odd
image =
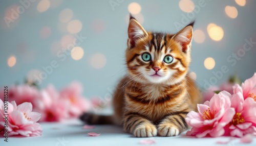
[[[60,51],[58,51],[57,57],[61,62],[65,61],[67,56],[71,55],[71,52],[76,51],[74,47],[81,45],[81,43],[86,39],[87,37],[83,37],[81,33],[79,35],[75,34],[75,38],[72,41],[73,43],[67,45],[67,48],[62,48]],[[42,71],[39,73],[39,75],[33,75],[33,82],[35,82],[37,85],[40,85],[42,81],[46,80],[47,77],[51,75],[53,70],[57,67],[59,67],[59,62],[57,60],[52,60],[48,66],[42,66]]]

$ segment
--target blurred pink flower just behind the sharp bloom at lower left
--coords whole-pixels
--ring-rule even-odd
[[[41,113],[40,121],[60,121],[68,118],[67,107],[69,105],[59,98],[59,93],[52,85],[40,91],[35,105],[35,111]]]

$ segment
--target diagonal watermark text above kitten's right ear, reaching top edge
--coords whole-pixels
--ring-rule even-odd
[[[211,0],[208,0],[211,1]],[[174,22],[175,28],[179,31],[188,25],[191,21],[195,20],[196,14],[201,11],[201,8],[206,6],[205,0],[198,1],[198,5],[195,5],[195,8],[192,12],[187,13],[186,15],[181,14],[181,22]],[[193,6],[189,6],[190,8]]]

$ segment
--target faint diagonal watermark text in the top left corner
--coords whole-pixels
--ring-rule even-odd
[[[15,20],[18,19],[18,17],[25,12],[26,9],[28,9],[31,6],[31,3],[34,3],[37,0],[20,0],[20,5],[16,9],[11,9],[11,15],[10,17],[5,16],[4,20],[7,25],[7,27],[10,27],[11,23],[14,23]]]

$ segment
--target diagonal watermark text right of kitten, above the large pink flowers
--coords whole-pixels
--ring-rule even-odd
[[[250,51],[256,44],[256,41],[253,41],[252,38],[245,39],[245,43],[243,44],[243,48],[240,48],[236,53],[232,53],[232,55],[227,57],[227,62],[234,66],[238,61],[241,60],[242,57],[245,56],[246,52]],[[209,80],[204,80],[204,89],[207,90],[210,86],[216,85],[218,80],[221,80],[224,74],[227,74],[229,68],[227,65],[222,65],[220,70],[212,71],[213,76],[209,78]]]

